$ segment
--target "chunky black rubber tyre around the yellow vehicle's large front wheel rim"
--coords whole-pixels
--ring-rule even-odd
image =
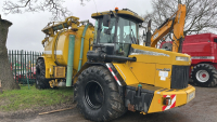
[[[102,111],[103,113],[101,113],[101,117],[98,118],[93,118],[90,117],[89,114],[85,113],[84,111],[84,106],[78,103],[77,108],[79,109],[80,113],[88,120],[91,121],[110,121],[113,119],[116,119],[120,116],[123,116],[127,109],[124,105],[124,98],[119,96],[118,94],[118,87],[117,87],[117,83],[115,82],[114,78],[112,77],[111,72],[104,68],[103,66],[91,66],[87,69],[85,69],[80,76],[78,76],[78,80],[75,83],[75,100],[79,100],[79,98],[81,97],[80,95],[78,95],[78,87],[79,85],[82,85],[82,79],[88,77],[88,76],[99,76],[102,79],[104,79],[105,83],[108,86],[108,91],[110,91],[110,95],[108,95],[108,108],[106,111]],[[82,83],[81,83],[82,82]],[[79,97],[80,96],[80,97]]]

